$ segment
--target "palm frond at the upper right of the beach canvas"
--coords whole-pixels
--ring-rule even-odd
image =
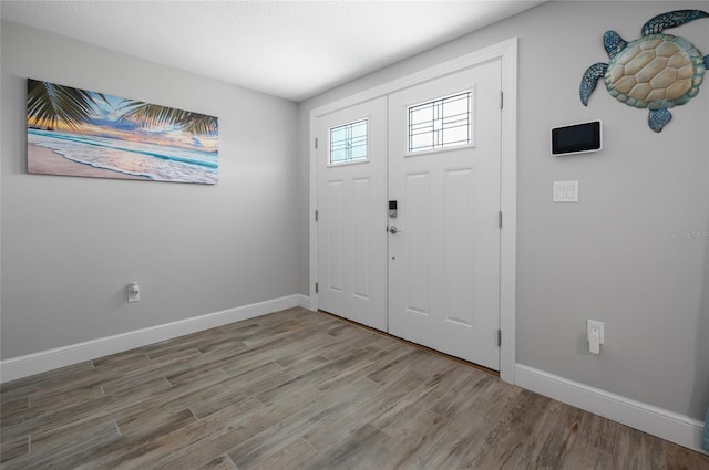
[[[174,107],[125,100],[119,111],[121,121],[131,121],[143,127],[175,126],[193,135],[210,135],[217,132],[216,117]]]

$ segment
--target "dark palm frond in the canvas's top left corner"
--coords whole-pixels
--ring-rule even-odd
[[[105,101],[101,93],[96,93]],[[85,90],[28,79],[28,122],[41,127],[55,127],[62,123],[72,129],[89,122],[96,101]]]

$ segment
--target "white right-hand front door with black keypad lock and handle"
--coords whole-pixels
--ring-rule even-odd
[[[499,60],[389,95],[389,333],[495,370],[500,101]]]

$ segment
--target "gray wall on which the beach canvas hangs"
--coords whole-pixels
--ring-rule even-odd
[[[11,22],[1,34],[2,359],[298,292],[295,103]],[[28,175],[27,77],[218,116],[219,184]]]

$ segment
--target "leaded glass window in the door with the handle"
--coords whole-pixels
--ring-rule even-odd
[[[472,92],[409,106],[409,153],[467,145]]]

